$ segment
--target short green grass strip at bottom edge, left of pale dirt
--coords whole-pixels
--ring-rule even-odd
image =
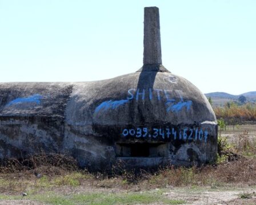
[[[163,204],[183,204],[183,200],[172,200],[163,196],[161,192],[130,192],[130,193],[87,193],[87,194],[74,194],[74,195],[55,195],[41,194],[31,196],[7,196],[0,195],[0,199],[30,199],[37,200],[49,204],[62,204],[62,205],[76,205],[76,204],[150,204],[150,203],[163,203]]]

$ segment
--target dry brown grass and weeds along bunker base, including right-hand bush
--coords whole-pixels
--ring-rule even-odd
[[[256,185],[255,142],[248,132],[241,132],[237,144],[219,144],[219,156],[224,160],[202,167],[165,167],[156,171],[122,170],[89,173],[77,166],[75,159],[62,154],[40,154],[26,159],[2,161],[0,192],[14,194],[67,190],[146,191],[153,188],[210,186],[227,184]],[[119,170],[120,171],[120,170]]]

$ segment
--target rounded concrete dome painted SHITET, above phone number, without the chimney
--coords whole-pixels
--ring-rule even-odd
[[[123,126],[216,121],[205,95],[170,72],[135,72],[75,84],[67,107],[66,117],[73,123]]]

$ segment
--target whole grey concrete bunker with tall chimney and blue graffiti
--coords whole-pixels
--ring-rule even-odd
[[[109,80],[0,83],[0,159],[65,153],[89,170],[199,165],[217,154],[205,95],[162,65],[159,10],[146,7],[143,66]]]

